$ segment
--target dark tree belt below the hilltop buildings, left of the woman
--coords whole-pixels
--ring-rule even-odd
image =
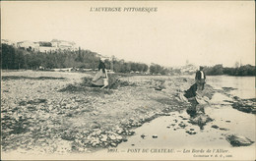
[[[48,53],[33,52],[2,44],[2,69],[46,69],[86,67],[96,68],[98,58],[96,53],[83,51],[53,51]]]

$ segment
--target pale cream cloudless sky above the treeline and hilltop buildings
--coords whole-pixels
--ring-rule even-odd
[[[157,12],[90,12],[157,7]],[[1,2],[1,38],[69,40],[126,61],[181,66],[255,65],[253,1]]]

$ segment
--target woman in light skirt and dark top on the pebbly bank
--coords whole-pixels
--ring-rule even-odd
[[[101,86],[101,88],[104,88],[108,85],[107,71],[105,69],[105,64],[102,58],[99,59],[97,73],[92,81],[92,84],[93,86]]]

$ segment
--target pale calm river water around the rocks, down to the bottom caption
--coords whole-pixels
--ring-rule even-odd
[[[231,90],[230,94],[240,98],[255,98],[255,78],[253,77],[208,77],[207,83],[216,89],[232,87],[234,90]],[[120,143],[115,152],[128,159],[254,160],[255,143],[250,146],[232,147],[225,139],[225,134],[243,135],[255,141],[255,115],[235,110],[224,100],[231,100],[231,98],[216,93],[210,104],[205,106],[205,113],[214,121],[208,123],[204,130],[188,123],[189,115],[186,111],[171,112],[170,116],[157,118],[135,129],[135,135],[128,137],[128,141]],[[178,125],[180,123],[187,127],[181,128]],[[222,130],[212,128],[213,125],[217,125]],[[187,134],[187,131],[196,134]],[[163,155],[158,151],[162,148],[168,149],[167,154]],[[143,149],[149,151],[143,153]],[[192,153],[193,149],[204,150],[204,152],[201,151],[201,155],[206,155],[207,149],[211,149],[212,152],[209,154],[214,156],[216,153],[213,153],[213,149],[223,149],[228,152],[218,153],[218,156],[213,158]],[[117,157],[119,155],[109,154],[107,150],[101,152],[103,155],[111,155],[113,159],[120,159]]]

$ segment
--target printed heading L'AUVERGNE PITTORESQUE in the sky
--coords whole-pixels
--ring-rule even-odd
[[[91,7],[90,12],[158,12],[158,7]]]

